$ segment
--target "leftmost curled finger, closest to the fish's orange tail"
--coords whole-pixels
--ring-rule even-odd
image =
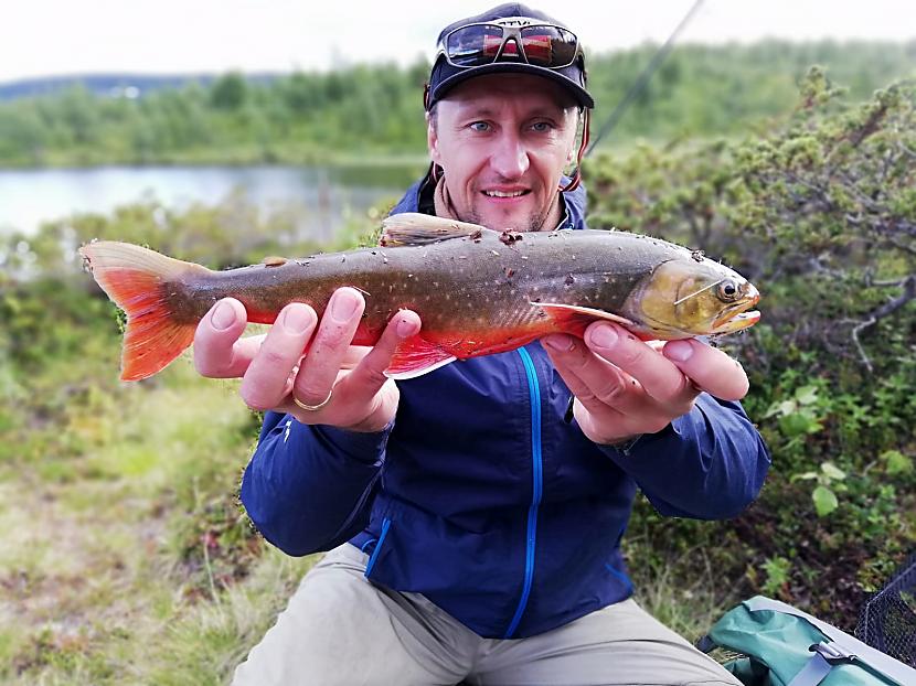
[[[242,339],[245,306],[225,298],[204,314],[194,333],[194,367],[210,378],[239,377],[257,353],[259,341]]]

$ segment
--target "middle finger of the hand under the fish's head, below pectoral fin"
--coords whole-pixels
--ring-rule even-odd
[[[662,405],[689,404],[696,390],[670,360],[621,326],[607,322],[590,324],[585,331],[588,347],[633,378]]]

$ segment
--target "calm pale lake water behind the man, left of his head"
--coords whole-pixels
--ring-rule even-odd
[[[103,167],[0,170],[0,233],[31,234],[74,213],[107,214],[155,199],[170,208],[241,194],[264,213],[295,213],[302,236],[326,239],[352,213],[396,201],[422,167]]]

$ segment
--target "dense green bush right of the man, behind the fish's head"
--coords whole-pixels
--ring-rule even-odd
[[[722,345],[750,377],[769,480],[735,522],[678,535],[726,546],[715,568],[742,592],[854,625],[916,539],[916,88],[850,105],[816,68],[766,136],[605,156],[586,179],[593,224],[703,248],[763,292],[761,323]]]

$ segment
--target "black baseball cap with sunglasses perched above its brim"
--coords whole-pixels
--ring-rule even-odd
[[[550,67],[532,64],[531,60],[529,60],[529,62],[524,62],[520,56],[515,57],[518,54],[518,45],[514,45],[511,51],[505,50],[499,61],[490,61],[486,64],[471,66],[456,66],[449,62],[443,52],[440,52],[436,56],[436,62],[433,65],[433,72],[429,75],[429,84],[425,103],[427,110],[433,107],[436,101],[443,99],[448,92],[451,90],[451,88],[468,81],[469,78],[482,76],[484,74],[504,73],[535,74],[537,76],[543,76],[544,78],[548,78],[560,86],[563,86],[563,88],[565,88],[566,92],[569,93],[569,95],[572,95],[576,103],[581,106],[587,108],[595,107],[595,100],[585,89],[585,57],[575,34],[569,32],[568,29],[566,29],[566,25],[562,22],[528,6],[518,2],[509,2],[500,4],[491,10],[487,10],[486,12],[481,12],[475,17],[468,17],[467,19],[456,21],[441,30],[439,37],[437,39],[437,44],[440,47],[444,47],[444,42],[448,39],[449,34],[452,34],[452,32],[458,29],[469,26],[470,24],[486,24],[487,22],[496,20],[512,20],[515,18],[520,21],[501,21],[500,23],[502,25],[518,28],[529,24],[550,24],[565,29],[564,35],[572,36],[572,40],[575,41],[575,56],[572,60],[572,63],[566,64],[565,66]],[[569,39],[567,37],[567,40]],[[505,47],[509,49],[509,45],[511,44],[512,39],[509,39],[505,43]],[[507,53],[510,54],[507,55]]]

